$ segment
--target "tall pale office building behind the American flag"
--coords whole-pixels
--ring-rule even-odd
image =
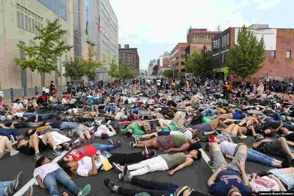
[[[79,0],[80,1],[80,0]],[[82,21],[86,31],[86,46],[90,43],[97,51],[96,60],[103,61],[105,66],[97,69],[96,80],[110,81],[106,70],[112,60],[118,63],[118,19],[108,0],[85,0],[85,14]],[[96,21],[100,19],[100,32]]]

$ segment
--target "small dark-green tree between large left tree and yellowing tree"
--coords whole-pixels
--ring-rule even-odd
[[[82,77],[83,65],[78,60],[73,60],[72,58],[69,61],[64,61],[63,66],[65,69],[64,77],[69,78],[70,82],[73,84],[74,80],[78,77]]]

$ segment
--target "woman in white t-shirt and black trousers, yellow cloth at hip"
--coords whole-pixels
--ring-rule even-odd
[[[142,152],[131,154],[109,154],[107,151],[100,152],[98,150],[96,155],[85,156],[79,161],[66,162],[63,159],[60,165],[69,175],[91,176],[97,175],[98,170],[110,170],[113,167],[111,164],[119,169],[121,165],[143,161],[154,155],[155,151],[152,150],[148,153],[146,146]]]

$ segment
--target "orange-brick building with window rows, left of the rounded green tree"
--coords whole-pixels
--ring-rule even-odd
[[[173,50],[171,51],[170,64],[175,66],[175,70],[178,70],[178,73],[175,75],[177,77],[185,76],[185,61],[186,61],[186,48],[188,43],[178,43]]]

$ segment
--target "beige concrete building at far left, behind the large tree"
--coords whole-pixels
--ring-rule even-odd
[[[35,87],[41,85],[41,74],[29,69],[22,70],[14,62],[14,58],[27,58],[24,52],[19,51],[17,45],[33,46],[37,43],[33,38],[39,34],[35,26],[44,28],[47,21],[60,19],[60,24],[64,30],[69,30],[69,6],[66,0],[46,1],[41,0],[1,0],[0,10],[2,11],[0,25],[2,26],[0,36],[0,88],[20,88]],[[56,3],[57,2],[57,3]],[[67,44],[73,45],[73,34],[69,33],[62,38]],[[66,82],[62,76],[64,68],[62,62],[69,58],[69,53],[61,56],[56,65],[59,68],[61,77],[52,73],[45,75],[45,86],[49,86],[50,81],[56,85]],[[44,82],[44,77],[43,82]]]

